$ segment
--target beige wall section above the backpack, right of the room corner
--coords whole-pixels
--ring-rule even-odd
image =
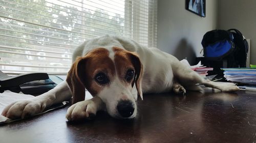
[[[256,1],[219,0],[218,3],[218,28],[237,28],[246,39],[251,39],[250,63],[256,65]]]

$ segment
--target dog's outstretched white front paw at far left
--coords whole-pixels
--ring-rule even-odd
[[[42,112],[45,109],[45,104],[33,100],[22,100],[14,102],[2,112],[2,115],[9,119],[24,119],[31,117],[36,113]]]

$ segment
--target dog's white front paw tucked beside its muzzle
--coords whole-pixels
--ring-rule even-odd
[[[97,112],[97,105],[92,100],[81,101],[68,108],[66,118],[69,121],[93,119]]]

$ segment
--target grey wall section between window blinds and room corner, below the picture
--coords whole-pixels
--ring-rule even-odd
[[[195,64],[203,35],[217,28],[217,2],[207,0],[206,17],[200,17],[185,9],[185,0],[159,0],[157,47]]]

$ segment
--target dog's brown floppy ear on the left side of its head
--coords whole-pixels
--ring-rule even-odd
[[[78,57],[66,79],[72,92],[72,104],[83,101],[85,98],[84,74],[86,74],[86,61],[87,58]]]

